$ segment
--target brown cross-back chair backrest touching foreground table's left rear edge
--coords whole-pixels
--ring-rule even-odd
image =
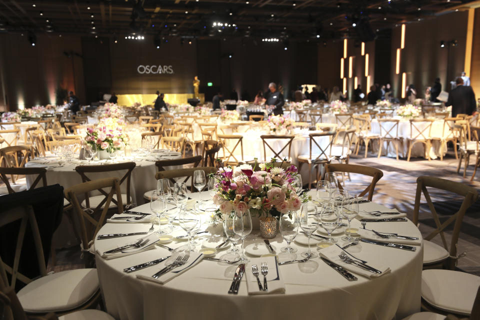
[[[133,164],[135,163],[133,162]],[[75,170],[77,170],[77,168],[78,166]],[[106,192],[104,191],[105,188],[110,188],[110,190]],[[83,208],[78,196],[83,196],[94,190],[101,190],[100,192],[102,192],[105,197],[100,204],[93,209],[93,211],[85,210],[85,208],[89,208],[89,202],[87,201],[86,207]],[[117,212],[121,213],[123,211],[123,203],[121,200],[120,184],[117,178],[110,177],[97,180],[87,180],[87,182],[75,184],[65,190],[65,198],[72,204],[73,210],[77,216],[77,219],[72,220],[74,223],[78,221],[80,224],[76,229],[80,231],[82,251],[88,250],[89,242],[94,239],[100,227],[105,223],[105,216],[110,203],[111,201],[114,201],[113,194],[115,194],[117,198]],[[86,197],[86,199],[88,199],[88,197]],[[104,204],[103,209],[101,209],[102,204]]]

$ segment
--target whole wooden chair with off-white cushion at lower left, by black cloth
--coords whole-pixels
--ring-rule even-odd
[[[6,303],[6,305],[10,305],[7,309],[11,311],[9,314],[11,317],[7,312],[7,319],[27,319],[25,313],[31,316],[40,316],[48,312],[61,315],[76,310],[94,308],[98,304],[101,294],[96,269],[74,269],[47,275],[40,232],[31,206],[18,205],[3,210],[0,213],[0,226],[10,223],[19,225],[19,232],[12,263],[6,264],[0,257],[0,296],[3,297],[2,302],[5,301],[4,296],[9,297],[7,302],[13,302]],[[18,272],[21,254],[30,253],[22,250],[22,245],[26,241],[32,241],[35,248],[34,254],[40,272],[39,277],[35,279]],[[68,280],[65,281],[65,279]],[[14,288],[17,282],[26,285],[15,294]],[[78,288],[82,289],[78,290]],[[39,303],[39,301],[41,302]],[[50,316],[49,319],[52,318]],[[33,319],[33,317],[28,318]]]

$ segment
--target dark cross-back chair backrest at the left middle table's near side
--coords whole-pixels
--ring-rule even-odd
[[[98,173],[98,172],[112,172],[118,170],[126,170],[126,172],[118,180],[118,185],[122,184],[124,181],[126,183],[126,204],[130,204],[130,177],[131,171],[135,168],[135,162],[123,162],[123,163],[114,163],[114,164],[102,164],[102,165],[78,165],[75,167],[75,171],[78,172],[81,176],[82,182],[92,181],[86,173]],[[93,174],[94,176],[94,174]],[[104,196],[108,195],[108,192],[99,188],[98,191]],[[104,198],[100,203],[98,203],[96,209],[100,208],[103,203],[105,203],[106,198]],[[90,207],[90,201],[88,194],[85,194],[86,206]],[[116,205],[121,205],[121,199],[112,199],[113,203]]]

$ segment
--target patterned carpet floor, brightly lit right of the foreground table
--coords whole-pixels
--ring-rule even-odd
[[[473,161],[473,158],[472,158]],[[470,165],[467,170],[467,178],[463,178],[460,173],[456,173],[456,165],[458,160],[448,154],[443,161],[424,160],[421,158],[413,158],[410,162],[404,159],[396,160],[395,158],[387,158],[372,156],[367,158],[352,156],[350,163],[358,163],[379,168],[383,171],[383,177],[378,181],[373,195],[373,201],[384,204],[389,207],[395,207],[400,212],[406,212],[408,217],[413,215],[413,204],[416,191],[416,178],[421,175],[431,175],[442,177],[451,181],[466,183],[480,189],[480,173],[472,182],[471,177],[473,166]],[[365,178],[360,175],[351,175],[351,181],[345,181],[345,188],[350,191],[361,191],[369,183],[369,177]],[[435,208],[440,215],[440,220],[444,221],[452,213],[458,209],[462,198],[445,192],[431,190],[430,196],[434,202]],[[426,201],[422,196],[422,205],[420,206],[419,228],[423,235],[428,234],[434,229],[434,222],[429,214]],[[453,226],[447,228],[445,237],[449,244],[450,233]],[[441,244],[439,236],[432,241]],[[480,275],[480,200],[472,205],[464,219],[458,241],[458,252],[466,252],[458,262],[458,268],[469,273]],[[48,266],[49,270],[60,271],[70,268],[83,267],[80,259],[80,252],[77,246],[69,249],[61,249],[56,252],[56,265]]]

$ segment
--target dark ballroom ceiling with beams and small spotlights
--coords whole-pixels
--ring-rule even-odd
[[[0,0],[0,33],[368,41],[465,0]],[[480,5],[480,4],[478,4]],[[221,23],[221,25],[219,24]]]

